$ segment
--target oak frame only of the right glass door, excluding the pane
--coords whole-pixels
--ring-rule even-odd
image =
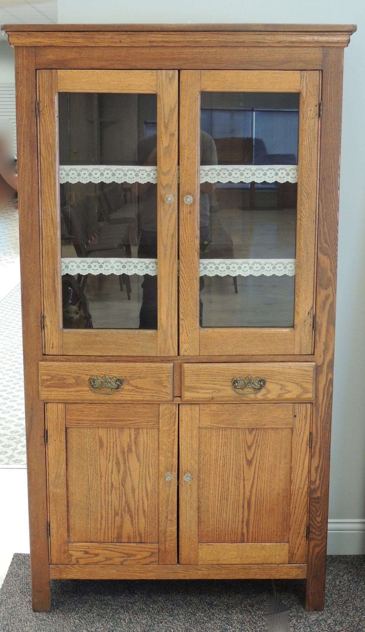
[[[274,87],[276,92],[298,92],[300,95],[294,327],[200,327],[200,94],[218,88],[220,92],[272,92]],[[181,71],[181,355],[221,355],[222,346],[227,355],[235,355],[242,349],[246,355],[313,353],[319,102],[318,71]],[[193,196],[193,204],[184,202],[186,195]]]

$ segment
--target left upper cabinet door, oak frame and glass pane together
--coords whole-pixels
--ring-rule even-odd
[[[40,71],[46,353],[177,353],[177,71]]]

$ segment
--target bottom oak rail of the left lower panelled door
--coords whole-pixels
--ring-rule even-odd
[[[158,544],[70,542],[69,564],[158,564]]]

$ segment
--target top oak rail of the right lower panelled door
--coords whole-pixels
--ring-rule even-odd
[[[292,404],[201,404],[200,428],[291,428]]]

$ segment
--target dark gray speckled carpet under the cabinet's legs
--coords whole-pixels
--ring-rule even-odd
[[[29,556],[16,554],[0,590],[0,631],[265,632],[272,595],[272,583],[263,580],[57,580],[51,586],[51,614],[33,613]],[[328,557],[324,612],[304,611],[304,581],[275,581],[275,588],[292,632],[365,631],[365,556]]]

